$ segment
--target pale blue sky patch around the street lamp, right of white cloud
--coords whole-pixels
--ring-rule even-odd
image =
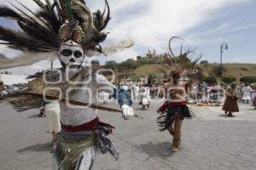
[[[256,63],[256,1],[230,6],[218,12],[219,17],[186,31],[183,37],[196,39],[205,59],[219,62],[219,46],[228,42],[224,62]]]

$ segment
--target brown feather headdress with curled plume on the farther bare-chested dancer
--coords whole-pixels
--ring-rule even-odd
[[[169,41],[169,52],[162,54],[161,57],[166,62],[163,65],[164,68],[158,68],[158,71],[165,75],[171,76],[177,75],[179,77],[183,74],[189,74],[189,71],[195,70],[196,63],[201,59],[201,55],[193,57],[195,55],[195,49],[186,49],[183,52],[183,46],[181,45],[180,54],[175,55],[172,51],[172,40],[180,39],[179,37],[172,37]]]

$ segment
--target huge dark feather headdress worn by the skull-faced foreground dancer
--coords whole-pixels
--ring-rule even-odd
[[[107,0],[104,11],[97,10],[93,14],[84,0],[29,1],[37,3],[39,10],[33,11],[18,0],[15,4],[10,3],[13,8],[0,6],[0,17],[15,20],[20,27],[14,30],[0,26],[0,44],[21,51],[21,56],[28,54],[37,58],[37,54],[42,56],[45,53],[44,59],[49,58],[47,54],[57,52],[61,43],[68,40],[79,43],[85,54],[87,51],[103,53],[100,43],[107,37],[108,33],[103,30],[110,20]],[[28,60],[38,62],[44,59]],[[12,65],[2,65],[0,59],[0,69],[20,66],[20,63],[14,65],[12,59],[8,61]],[[31,65],[31,62],[23,60],[22,65]]]

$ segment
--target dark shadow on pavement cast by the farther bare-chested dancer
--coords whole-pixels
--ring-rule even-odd
[[[148,144],[140,144],[137,146],[138,150],[142,150],[143,153],[150,157],[160,157],[162,159],[168,159],[173,155],[171,142],[162,142],[158,144],[153,144],[148,142]]]

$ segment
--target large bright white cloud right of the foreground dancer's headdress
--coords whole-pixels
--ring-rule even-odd
[[[172,36],[199,26],[212,18],[212,14],[229,5],[244,0],[148,0],[143,8],[140,0],[109,0],[112,5],[113,20],[108,27],[109,39],[117,41],[120,37],[131,37],[136,45],[147,49],[163,50]],[[130,8],[137,8],[133,14]],[[125,10],[126,9],[126,10]],[[119,16],[122,19],[119,19]]]

